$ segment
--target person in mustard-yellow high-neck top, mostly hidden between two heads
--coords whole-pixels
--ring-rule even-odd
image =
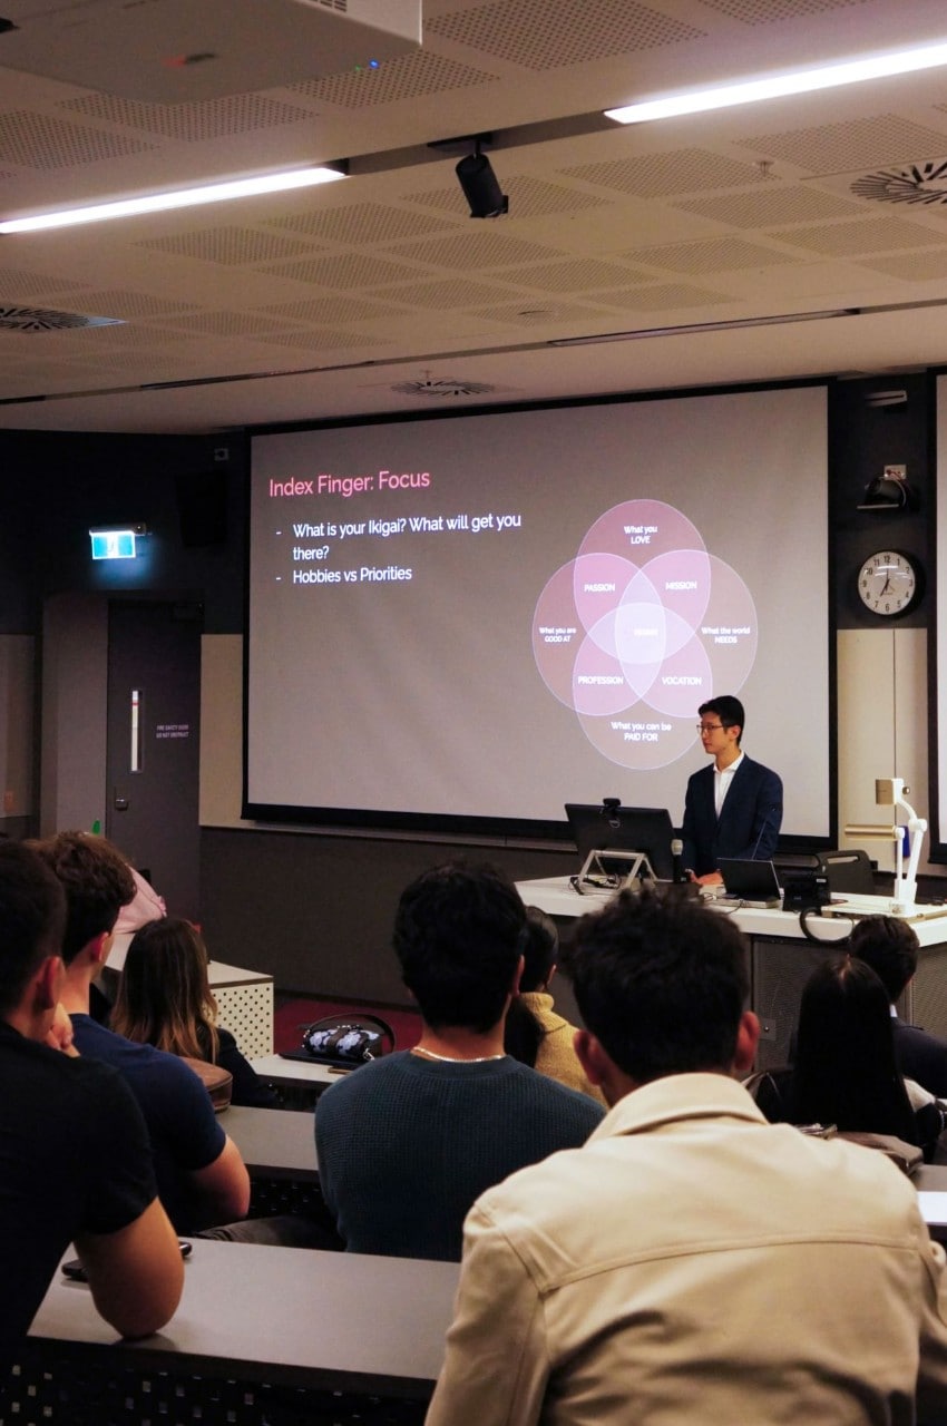
[[[553,1010],[549,984],[556,974],[558,954],[556,923],[538,906],[528,906],[523,974],[519,995],[513,997],[506,1015],[503,1047],[522,1064],[603,1105],[602,1091],[589,1082],[575,1052],[576,1027]]]

